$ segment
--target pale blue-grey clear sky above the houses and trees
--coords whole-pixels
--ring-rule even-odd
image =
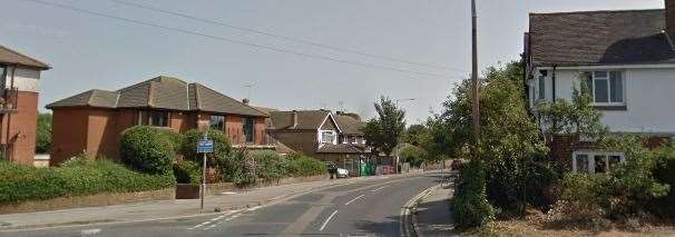
[[[52,67],[41,76],[41,111],[86,90],[173,76],[282,110],[326,108],[369,118],[373,102],[385,96],[401,100],[408,124],[415,124],[440,111],[471,69],[469,0],[126,0],[294,40],[111,0],[39,1],[118,18],[0,0],[0,45]],[[664,0],[478,0],[480,68],[519,58],[529,12],[663,6]]]

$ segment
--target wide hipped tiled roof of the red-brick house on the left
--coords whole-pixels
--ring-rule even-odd
[[[177,78],[157,77],[117,91],[89,90],[47,106],[99,108],[154,108],[180,111],[209,111],[267,117],[235,99],[198,83]]]

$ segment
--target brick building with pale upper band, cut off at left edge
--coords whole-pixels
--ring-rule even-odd
[[[0,149],[4,159],[33,165],[40,73],[50,67],[0,46]]]

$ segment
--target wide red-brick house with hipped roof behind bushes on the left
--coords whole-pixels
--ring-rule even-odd
[[[212,127],[235,146],[268,144],[262,111],[203,85],[164,76],[115,91],[89,90],[47,108],[53,110],[50,165],[82,151],[118,158],[121,132],[137,125],[178,132]]]

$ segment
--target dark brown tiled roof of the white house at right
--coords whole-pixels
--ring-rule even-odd
[[[665,10],[531,13],[531,65],[675,63]]]

